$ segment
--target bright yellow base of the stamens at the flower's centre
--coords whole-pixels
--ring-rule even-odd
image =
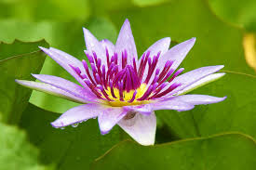
[[[121,101],[119,89],[114,87],[114,94],[116,97],[116,98],[114,98],[111,94],[111,88],[108,87],[107,90],[105,90],[105,91],[108,94],[108,97],[114,101],[106,100],[105,102],[107,102],[108,105],[111,105],[113,107],[141,105],[141,104],[150,103],[149,100],[142,100],[142,101],[137,100],[138,98],[141,98],[144,95],[146,90],[147,90],[146,84],[141,84],[141,86],[139,88],[137,88],[137,94],[136,94],[135,99],[132,102],[128,102],[132,98],[134,90],[130,90],[129,92],[123,91],[123,101]]]

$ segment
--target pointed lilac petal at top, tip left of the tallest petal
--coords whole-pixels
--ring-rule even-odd
[[[106,53],[101,43],[92,33],[88,31],[88,29],[83,28],[83,31],[85,35],[85,41],[86,41],[88,53],[92,55],[92,52],[95,52],[97,55],[97,58],[101,59],[102,64],[106,64]]]

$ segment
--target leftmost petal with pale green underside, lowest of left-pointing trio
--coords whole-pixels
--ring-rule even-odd
[[[76,103],[87,103],[88,101],[85,100],[84,98],[78,98],[74,96],[71,93],[68,93],[60,88],[57,88],[56,86],[53,85],[48,85],[45,83],[39,83],[39,82],[34,82],[34,81],[27,81],[27,80],[15,80],[20,85],[23,85],[25,87],[32,88],[37,91],[45,92],[47,94],[60,97],[60,98],[65,98],[71,101],[74,101]]]

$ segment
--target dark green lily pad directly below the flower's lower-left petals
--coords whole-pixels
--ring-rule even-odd
[[[101,136],[97,120],[91,119],[77,127],[56,129],[50,125],[59,113],[44,111],[29,104],[20,121],[30,141],[40,150],[42,163],[54,163],[57,169],[88,169],[89,164],[126,137],[115,128]]]

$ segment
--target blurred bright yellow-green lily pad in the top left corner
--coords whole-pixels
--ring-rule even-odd
[[[18,19],[26,21],[87,20],[90,15],[88,0],[26,0],[0,2],[0,19]],[[50,11],[50,12],[48,12]]]

